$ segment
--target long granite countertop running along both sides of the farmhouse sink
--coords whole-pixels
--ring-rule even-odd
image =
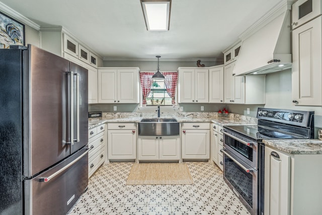
[[[104,117],[102,120],[89,121],[89,129],[92,129],[96,126],[99,126],[103,123],[108,122],[140,122],[142,118],[155,118],[155,117],[124,117],[124,118],[115,118],[115,117]],[[231,119],[228,117],[218,117],[218,118],[209,118],[209,117],[160,117],[160,118],[175,118],[178,122],[212,122],[218,125],[231,125],[231,124],[254,124],[246,120]]]

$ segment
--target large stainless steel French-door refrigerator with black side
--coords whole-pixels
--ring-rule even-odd
[[[88,186],[88,70],[0,49],[0,214],[66,214]]]

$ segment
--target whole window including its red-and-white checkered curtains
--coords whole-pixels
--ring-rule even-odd
[[[178,72],[166,71],[164,80],[152,80],[154,72],[140,72],[141,101],[145,106],[176,106]]]

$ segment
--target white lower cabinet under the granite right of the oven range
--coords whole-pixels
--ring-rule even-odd
[[[294,155],[265,147],[265,215],[321,214],[322,154]]]

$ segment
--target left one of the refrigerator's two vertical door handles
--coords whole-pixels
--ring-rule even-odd
[[[73,71],[68,71],[69,78],[69,141],[66,142],[67,145],[74,145],[74,97],[73,97],[73,89],[74,89],[74,73]]]

